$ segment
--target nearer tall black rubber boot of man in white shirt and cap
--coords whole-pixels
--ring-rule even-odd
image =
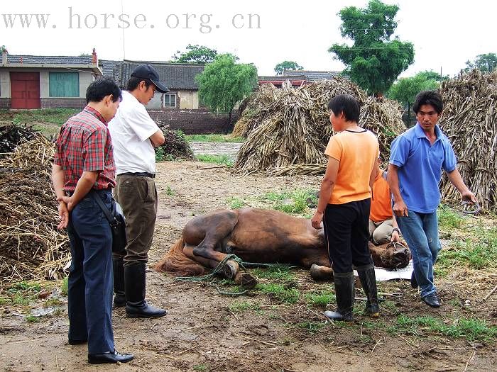
[[[148,305],[145,300],[145,262],[124,267],[127,317],[163,317],[167,312]]]

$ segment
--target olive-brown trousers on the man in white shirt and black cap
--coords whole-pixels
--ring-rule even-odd
[[[114,258],[123,258],[124,266],[148,261],[157,218],[155,181],[146,176],[119,175],[114,198],[123,208],[128,239],[126,255],[114,254]]]

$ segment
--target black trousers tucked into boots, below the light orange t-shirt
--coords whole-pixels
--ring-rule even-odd
[[[323,225],[329,262],[336,273],[349,273],[353,266],[373,264],[368,249],[371,199],[328,204]]]

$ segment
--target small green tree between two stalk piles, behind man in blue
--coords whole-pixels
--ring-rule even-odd
[[[437,79],[439,80],[437,81]],[[391,86],[387,96],[388,98],[403,103],[404,106],[408,106],[408,124],[410,124],[410,107],[414,103],[416,95],[420,91],[437,89],[439,81],[440,74],[437,74],[436,72],[419,72],[413,77],[398,79],[398,81]]]

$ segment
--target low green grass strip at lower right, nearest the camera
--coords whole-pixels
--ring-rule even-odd
[[[497,327],[488,326],[484,320],[459,318],[450,323],[435,317],[408,317],[400,315],[397,324],[388,327],[388,332],[404,332],[422,335],[424,332],[469,341],[497,339]]]

